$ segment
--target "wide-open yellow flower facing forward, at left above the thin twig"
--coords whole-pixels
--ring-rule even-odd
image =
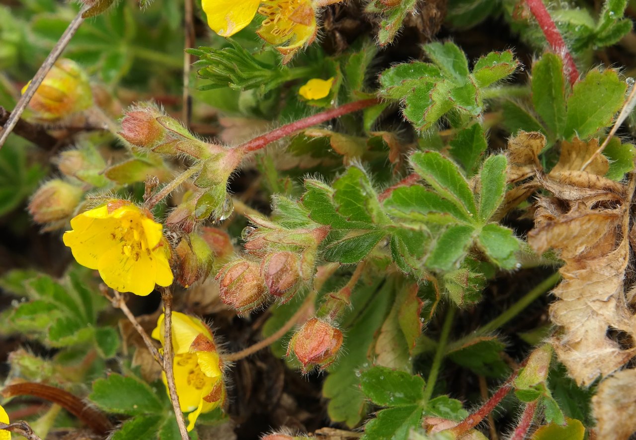
[[[71,228],[64,233],[64,244],[80,265],[99,270],[108,287],[143,296],[155,284],[172,284],[163,226],[148,211],[111,200],[74,217]]]

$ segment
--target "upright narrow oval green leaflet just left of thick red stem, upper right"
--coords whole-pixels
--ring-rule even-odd
[[[544,53],[532,65],[532,104],[551,134],[565,127],[563,63],[554,53]]]

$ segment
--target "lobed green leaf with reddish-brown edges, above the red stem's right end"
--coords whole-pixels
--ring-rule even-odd
[[[508,78],[519,62],[510,51],[481,57],[471,73],[464,52],[453,43],[424,46],[432,63],[398,64],[380,75],[380,96],[398,99],[413,127],[427,130],[455,109],[466,116],[483,111],[481,88]]]

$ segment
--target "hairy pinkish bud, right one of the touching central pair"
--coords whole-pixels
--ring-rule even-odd
[[[298,288],[298,255],[294,252],[275,252],[268,254],[261,262],[261,275],[265,285],[273,296],[283,298],[284,302],[294,296]]]

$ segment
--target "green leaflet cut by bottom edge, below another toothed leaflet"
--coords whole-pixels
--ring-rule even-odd
[[[422,406],[382,409],[364,425],[364,440],[408,440],[411,429],[422,423]]]

